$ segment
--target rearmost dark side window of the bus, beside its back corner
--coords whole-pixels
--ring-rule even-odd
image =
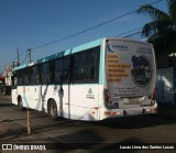
[[[97,83],[100,47],[73,54],[70,58],[70,80],[75,84]]]

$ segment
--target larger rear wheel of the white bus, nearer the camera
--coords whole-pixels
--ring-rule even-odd
[[[56,105],[55,100],[52,99],[48,102],[47,112],[48,112],[48,116],[53,120],[57,120],[58,119],[58,116],[57,116],[57,105]]]

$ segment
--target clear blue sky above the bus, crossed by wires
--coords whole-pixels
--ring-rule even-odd
[[[134,12],[91,31],[45,45],[155,1],[157,0],[0,0],[0,73],[16,62],[18,48],[22,64],[28,62],[28,48],[34,48],[32,61],[35,61],[105,36],[125,36],[123,33],[128,35],[129,31],[142,28],[152,19]],[[167,11],[166,0],[154,7]],[[37,47],[42,45],[45,46]]]

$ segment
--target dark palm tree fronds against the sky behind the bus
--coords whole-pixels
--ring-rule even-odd
[[[161,42],[166,52],[176,52],[176,0],[167,0],[168,12],[165,13],[150,4],[141,6],[138,13],[144,13],[152,18],[150,23],[143,26],[142,35],[148,42]]]

